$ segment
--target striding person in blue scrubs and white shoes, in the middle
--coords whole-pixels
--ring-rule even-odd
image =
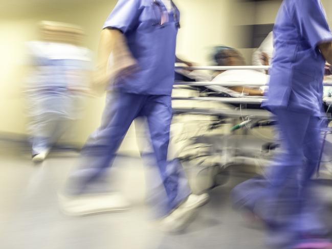
[[[183,229],[207,194],[193,195],[182,167],[168,162],[171,92],[180,12],[170,0],[120,0],[101,32],[95,84],[106,83],[102,124],[71,174],[62,209],[72,215],[128,208],[117,193],[87,195],[104,177],[132,121],[145,117],[163,189],[163,228]],[[97,191],[98,192],[98,191]]]

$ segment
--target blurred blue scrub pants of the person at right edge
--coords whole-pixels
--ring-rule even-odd
[[[320,119],[288,109],[277,109],[275,115],[283,152],[267,178],[250,179],[232,194],[236,208],[250,210],[266,222],[271,246],[292,248],[325,238],[328,232],[320,217],[323,205],[311,188],[322,149]]]

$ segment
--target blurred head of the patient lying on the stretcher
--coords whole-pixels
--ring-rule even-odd
[[[236,49],[229,47],[217,47],[213,60],[218,66],[246,65],[244,57]]]

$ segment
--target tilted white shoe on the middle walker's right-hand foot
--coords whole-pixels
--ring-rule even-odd
[[[204,206],[209,201],[208,194],[191,194],[172,213],[161,221],[161,228],[165,232],[180,232],[184,230],[190,221],[195,217],[198,208]]]

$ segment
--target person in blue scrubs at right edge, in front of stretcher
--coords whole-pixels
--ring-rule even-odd
[[[267,101],[279,124],[283,152],[265,179],[233,191],[235,206],[264,221],[276,248],[332,248],[324,207],[312,191],[320,164],[323,76],[332,34],[319,0],[284,0],[274,30]]]

